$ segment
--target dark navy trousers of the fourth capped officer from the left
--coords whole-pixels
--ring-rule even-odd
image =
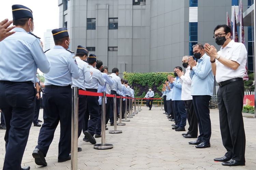
[[[97,89],[86,89],[87,91],[97,92]],[[98,96],[87,96],[87,108],[85,112],[86,120],[90,117],[89,121],[85,122],[88,124],[87,131],[94,135],[96,133],[97,121],[99,118],[99,97]],[[85,127],[86,129],[86,127]]]

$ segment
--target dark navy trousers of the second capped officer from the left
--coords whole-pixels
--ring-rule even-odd
[[[38,136],[38,148],[46,156],[55,129],[60,122],[58,159],[69,157],[71,151],[72,89],[70,86],[45,86],[43,93],[44,123]]]

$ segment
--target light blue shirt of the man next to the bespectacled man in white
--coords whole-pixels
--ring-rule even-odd
[[[190,71],[191,96],[213,95],[214,77],[210,57],[204,54]]]

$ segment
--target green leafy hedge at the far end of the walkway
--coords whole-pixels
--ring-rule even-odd
[[[163,83],[167,80],[168,75],[173,76],[173,72],[158,73],[127,73],[124,72],[124,79],[128,80],[130,86],[133,87],[135,97],[144,98],[148,88],[151,87],[155,92],[154,98],[162,96]]]

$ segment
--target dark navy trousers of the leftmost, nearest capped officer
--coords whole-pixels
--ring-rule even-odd
[[[0,108],[6,125],[3,170],[20,170],[34,115],[32,82],[0,81]]]

